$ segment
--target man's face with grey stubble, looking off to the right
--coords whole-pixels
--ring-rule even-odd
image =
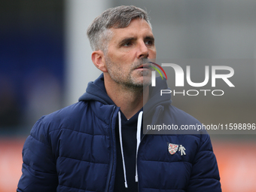
[[[151,83],[151,68],[143,59],[155,59],[156,47],[151,27],[145,20],[134,19],[126,28],[111,28],[105,63],[110,81],[126,87]]]

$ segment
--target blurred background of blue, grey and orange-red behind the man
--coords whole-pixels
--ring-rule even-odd
[[[190,66],[194,82],[203,81],[206,65],[234,69],[235,87],[221,81],[208,87],[224,96],[179,94],[173,105],[205,124],[256,123],[254,0],[0,0],[0,192],[16,190],[35,121],[77,102],[99,76],[87,26],[117,5],[148,11],[157,63],[176,63],[184,72]],[[255,133],[211,134],[224,192],[255,191]]]

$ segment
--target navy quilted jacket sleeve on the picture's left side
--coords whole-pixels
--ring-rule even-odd
[[[23,167],[17,191],[56,191],[56,163],[45,134],[44,117],[33,126],[23,146]]]

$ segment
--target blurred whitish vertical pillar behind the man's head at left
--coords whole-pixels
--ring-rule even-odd
[[[111,0],[66,0],[66,93],[64,105],[78,101],[88,82],[101,73],[90,59],[92,50],[87,39],[87,27],[95,17],[105,11]]]

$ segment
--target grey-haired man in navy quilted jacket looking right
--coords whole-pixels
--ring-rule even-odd
[[[221,191],[209,135],[142,132],[148,123],[199,123],[170,96],[155,99],[168,87],[161,79],[150,86],[145,61],[156,48],[147,13],[110,8],[87,35],[102,75],[78,103],[35,123],[17,191]]]

